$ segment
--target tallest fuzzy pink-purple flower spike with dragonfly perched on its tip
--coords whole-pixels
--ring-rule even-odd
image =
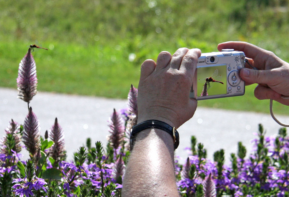
[[[37,92],[36,87],[36,64],[29,48],[19,64],[17,78],[18,98],[29,103]]]

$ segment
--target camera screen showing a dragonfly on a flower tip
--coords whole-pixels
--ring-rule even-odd
[[[227,94],[227,66],[197,68],[197,96]]]

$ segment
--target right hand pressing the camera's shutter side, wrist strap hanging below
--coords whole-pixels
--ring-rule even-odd
[[[246,68],[240,70],[241,78],[246,85],[258,83],[254,90],[255,97],[273,99],[284,105],[289,105],[289,99],[281,97],[289,96],[289,64],[273,52],[261,49],[246,42],[225,42],[218,45],[218,50],[234,49],[243,51],[249,63],[258,70]]]

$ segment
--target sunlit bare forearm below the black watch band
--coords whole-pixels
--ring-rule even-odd
[[[137,135],[122,196],[179,196],[172,136],[159,129],[146,129]]]

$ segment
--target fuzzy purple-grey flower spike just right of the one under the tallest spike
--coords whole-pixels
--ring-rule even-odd
[[[57,118],[55,118],[54,125],[50,129],[49,136],[50,139],[53,141],[53,145],[50,149],[50,154],[55,160],[55,162],[58,163],[65,155],[65,148],[63,130],[58,124]]]

